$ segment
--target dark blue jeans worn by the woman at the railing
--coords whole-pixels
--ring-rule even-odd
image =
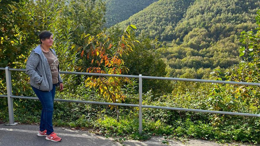
[[[56,91],[56,86],[53,84],[52,90],[49,91],[41,91],[37,88],[32,87],[32,90],[36,93],[40,102],[43,106],[40,120],[40,131],[47,130],[47,134],[51,134],[53,132],[52,127],[52,114],[53,114],[53,101]]]

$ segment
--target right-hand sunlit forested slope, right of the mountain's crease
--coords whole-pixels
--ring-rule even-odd
[[[259,6],[257,0],[195,1],[169,35],[173,47],[164,58],[173,69],[172,76],[190,72],[202,78],[214,68],[238,64],[240,33],[254,30]],[[176,53],[180,48],[181,53]]]

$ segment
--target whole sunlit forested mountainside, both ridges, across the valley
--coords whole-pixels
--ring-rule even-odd
[[[172,68],[171,76],[189,72],[202,78],[213,68],[228,68],[241,61],[239,35],[256,27],[259,6],[258,0],[160,0],[120,26],[135,24],[137,34],[159,35],[167,41],[163,58]]]

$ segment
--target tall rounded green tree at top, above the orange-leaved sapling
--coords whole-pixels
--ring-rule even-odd
[[[82,33],[97,35],[101,32],[105,23],[105,3],[102,0],[70,0],[64,9],[67,16],[76,26],[73,32],[74,43],[84,45],[80,36]]]

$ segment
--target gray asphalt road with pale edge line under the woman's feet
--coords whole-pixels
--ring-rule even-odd
[[[152,137],[147,141],[126,140],[125,142],[115,142],[113,138],[105,138],[87,131],[71,130],[64,127],[54,127],[54,131],[62,137],[61,142],[51,142],[45,137],[37,136],[38,125],[6,126],[0,124],[0,146],[159,146],[163,144],[163,137]],[[180,141],[170,140],[168,145],[175,146],[219,146],[219,144],[207,140],[191,139],[183,144]],[[225,144],[239,145],[239,144]],[[245,145],[241,145],[245,146]]]

